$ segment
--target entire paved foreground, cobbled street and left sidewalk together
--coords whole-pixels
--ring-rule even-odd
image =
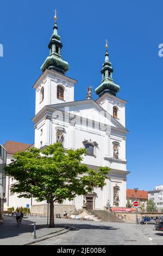
[[[67,226],[71,229],[35,245],[163,245],[163,232],[154,231],[154,225],[55,219],[56,227],[51,230],[46,225],[46,218],[24,219],[17,227],[12,217],[5,217],[0,225],[0,245],[24,245],[36,241],[32,235],[35,222],[37,236]]]

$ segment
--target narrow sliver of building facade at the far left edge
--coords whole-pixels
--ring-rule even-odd
[[[5,172],[4,167],[7,161],[7,151],[0,144],[0,223],[3,222],[3,205],[5,202]]]

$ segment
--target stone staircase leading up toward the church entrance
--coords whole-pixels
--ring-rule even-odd
[[[115,214],[112,214],[106,210],[87,210],[87,212],[96,217],[97,221],[107,221],[107,222],[124,222],[122,218],[117,217]]]

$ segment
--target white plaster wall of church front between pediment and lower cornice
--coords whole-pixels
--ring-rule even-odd
[[[42,135],[41,135],[42,129]],[[35,129],[35,147],[40,148],[40,141],[43,145],[49,145],[56,142],[57,130],[64,130],[64,147],[66,149],[78,149],[84,148],[83,141],[90,140],[97,142],[96,156],[84,156],[83,162],[86,164],[92,164],[95,166],[105,166],[104,157],[113,157],[113,144],[112,142],[117,141],[120,143],[119,154],[121,160],[125,155],[125,141],[117,136],[106,135],[106,132],[92,129],[86,126],[70,125],[61,121],[43,119]],[[124,155],[123,155],[124,154]],[[112,160],[109,161],[106,166],[113,169],[126,170],[126,163],[122,161]]]

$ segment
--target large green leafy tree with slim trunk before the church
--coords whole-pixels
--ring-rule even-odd
[[[49,227],[54,227],[54,202],[61,204],[65,199],[72,200],[105,185],[110,168],[100,167],[96,172],[80,164],[85,153],[85,149],[65,152],[61,143],[49,145],[43,151],[30,148],[17,153],[15,161],[5,167],[5,173],[18,181],[11,191],[20,193],[19,197],[33,196],[37,202],[47,200]]]

